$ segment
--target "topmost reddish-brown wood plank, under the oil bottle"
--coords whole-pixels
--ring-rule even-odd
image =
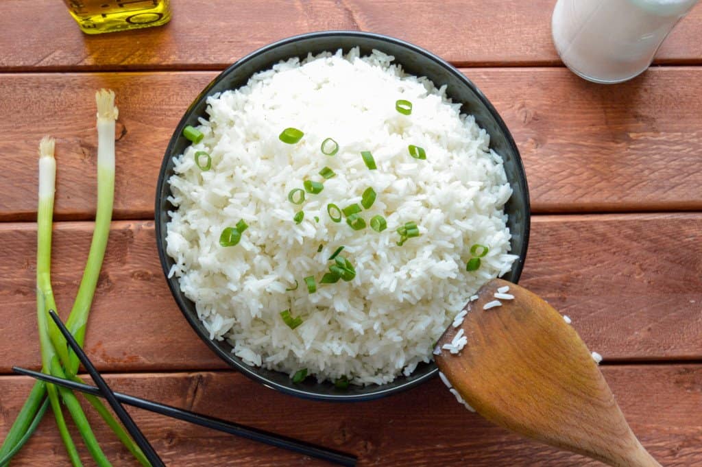
[[[89,36],[61,2],[4,0],[0,69],[219,70],[272,41],[329,29],[388,34],[461,66],[560,63],[550,33],[555,0],[497,1],[490,8],[481,0],[172,4],[173,19],[165,27]],[[657,62],[701,63],[701,31],[702,8],[694,8],[665,41]]]

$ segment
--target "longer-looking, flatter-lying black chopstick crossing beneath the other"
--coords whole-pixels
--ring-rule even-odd
[[[89,386],[88,384],[83,383],[76,383],[74,381],[69,381],[67,379],[58,378],[56,376],[51,376],[48,374],[39,373],[38,371],[32,371],[20,367],[13,367],[12,369],[13,371],[15,371],[15,373],[18,374],[32,376],[32,378],[41,379],[42,381],[54,383],[58,386],[64,386],[65,388],[77,390],[82,393],[91,394],[98,397],[104,397],[102,393],[100,393],[100,389],[95,388],[95,386]],[[194,423],[195,425],[204,426],[205,428],[211,428],[212,430],[218,430],[224,433],[229,433],[230,435],[241,436],[241,438],[263,442],[266,445],[280,447],[282,449],[288,449],[289,451],[293,452],[299,452],[300,454],[304,454],[305,456],[310,456],[317,459],[323,459],[324,461],[337,463],[340,466],[355,467],[356,465],[356,456],[346,454],[345,452],[327,449],[326,447],[321,447],[308,442],[295,440],[293,438],[288,438],[287,436],[276,435],[265,430],[259,430],[258,428],[251,428],[249,426],[240,425],[239,423],[233,423],[222,419],[216,419],[211,416],[197,414],[195,412],[190,412],[189,410],[178,409],[178,407],[173,407],[171,405],[159,404],[159,402],[140,399],[139,397],[134,397],[132,395],[122,393],[113,394],[114,397],[116,397],[117,400],[119,400],[119,402],[131,405],[132,407],[138,407],[139,409],[148,410],[149,412],[170,416],[173,419],[187,421],[190,423]]]

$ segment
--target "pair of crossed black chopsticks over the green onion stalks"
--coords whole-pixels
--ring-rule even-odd
[[[85,367],[90,374],[93,381],[95,381],[95,386],[89,386],[83,383],[76,383],[74,381],[69,381],[66,379],[58,378],[56,376],[51,376],[44,373],[39,373],[38,371],[32,371],[28,369],[23,369],[19,367],[13,367],[13,371],[18,374],[24,374],[27,376],[32,376],[35,379],[40,379],[48,383],[57,384],[58,386],[64,386],[65,388],[77,390],[86,394],[95,395],[98,397],[104,397],[107,402],[110,403],[110,407],[119,416],[119,419],[124,423],[125,428],[128,430],[129,434],[133,438],[134,442],[141,448],[144,455],[147,457],[149,462],[153,467],[165,466],[164,462],[161,461],[159,455],[156,453],[154,448],[150,445],[149,441],[145,438],[141,430],[136,426],[133,419],[126,412],[122,403],[131,405],[132,407],[138,407],[140,409],[145,409],[150,412],[155,412],[157,414],[170,416],[173,419],[188,421],[194,423],[195,425],[204,426],[206,428],[211,428],[213,430],[222,431],[224,433],[229,433],[230,435],[241,436],[242,438],[247,438],[249,440],[254,440],[258,442],[263,442],[267,445],[272,445],[275,447],[281,447],[283,449],[288,449],[289,451],[298,452],[304,454],[305,456],[315,457],[317,459],[323,459],[325,461],[337,463],[340,466],[354,467],[356,465],[356,456],[350,454],[345,454],[343,452],[334,451],[333,449],[327,449],[325,447],[312,445],[308,442],[295,440],[293,438],[288,438],[282,435],[276,435],[274,433],[269,433],[264,430],[259,430],[257,428],[251,428],[248,426],[240,425],[239,423],[232,423],[229,421],[216,419],[210,416],[205,416],[197,414],[195,412],[190,412],[185,409],[178,409],[177,407],[172,407],[166,404],[159,404],[158,402],[153,402],[151,400],[140,399],[139,397],[134,397],[131,395],[115,393],[112,391],[110,386],[107,385],[102,376],[93,363],[88,359],[88,356],[84,350],[78,345],[72,334],[66,329],[65,325],[61,322],[60,318],[56,313],[51,310],[49,312],[51,318],[54,320],[58,329],[60,329],[61,334],[66,338],[69,347],[77,355],[78,360]]]

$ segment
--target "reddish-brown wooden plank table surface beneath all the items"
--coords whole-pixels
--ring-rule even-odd
[[[37,143],[57,138],[53,285],[67,316],[95,209],[97,88],[117,93],[117,198],[86,349],[119,390],[357,454],[360,466],[595,465],[463,410],[440,381],[375,402],[282,395],[228,369],[180,315],[154,242],[166,141],[226,65],[322,29],[406,39],[461,67],[494,103],[527,168],[534,211],[522,284],[567,313],[642,443],[665,466],[702,466],[702,7],[641,77],[585,82],[550,40],[554,0],[206,1],[166,27],[88,37],[60,1],[0,15],[0,435],[39,367],[34,308]],[[497,34],[496,34],[497,33]],[[90,412],[90,411],[88,411]],[[168,466],[324,466],[133,412]],[[115,466],[133,466],[93,413]],[[91,465],[81,446],[86,465]],[[16,466],[69,465],[53,416]]]

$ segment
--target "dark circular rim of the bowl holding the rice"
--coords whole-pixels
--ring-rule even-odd
[[[168,289],[171,290],[171,295],[173,296],[173,299],[176,301],[176,304],[178,305],[178,308],[180,309],[180,313],[183,314],[187,322],[190,324],[190,327],[195,331],[195,334],[197,334],[202,341],[206,343],[206,345],[216,354],[220,359],[222,359],[225,363],[229,364],[230,367],[234,367],[237,371],[240,371],[242,374],[245,376],[249,377],[250,379],[253,379],[253,381],[256,381],[257,383],[262,384],[263,386],[266,386],[267,388],[279,390],[280,392],[284,394],[289,394],[289,395],[295,395],[297,397],[301,397],[303,399],[307,400],[319,400],[319,401],[331,401],[331,402],[355,402],[355,401],[362,401],[362,400],[375,400],[380,397],[385,397],[391,394],[399,393],[402,392],[403,390],[407,390],[409,388],[413,388],[415,386],[420,385],[421,383],[428,381],[429,379],[434,378],[437,376],[439,369],[436,367],[436,364],[433,364],[433,368],[427,371],[425,374],[416,377],[415,379],[406,381],[404,383],[400,383],[395,386],[391,386],[389,388],[383,388],[385,385],[376,385],[378,387],[378,390],[374,390],[369,393],[364,393],[364,394],[345,394],[345,393],[339,393],[339,394],[319,394],[319,393],[312,393],[311,391],[305,390],[304,387],[302,386],[300,389],[294,388],[291,386],[284,386],[282,384],[276,383],[274,381],[270,381],[266,379],[263,376],[260,376],[252,367],[249,367],[246,364],[243,364],[241,362],[238,362],[237,360],[234,360],[232,358],[232,355],[230,353],[226,352],[220,346],[217,345],[216,342],[212,341],[208,336],[204,335],[204,333],[201,332],[199,329],[199,320],[197,320],[197,317],[191,316],[190,313],[186,312],[186,303],[183,300],[183,294],[180,292],[180,289],[177,289],[173,281],[168,279],[168,273],[170,272],[170,268],[168,268],[168,258],[166,257],[166,246],[165,246],[165,237],[163,237],[161,234],[161,221],[163,216],[167,216],[166,212],[161,211],[161,202],[162,199],[165,195],[164,190],[162,189],[164,187],[164,178],[166,176],[166,168],[168,166],[168,161],[171,158],[171,149],[173,146],[176,145],[176,142],[178,138],[180,138],[180,133],[185,126],[187,120],[190,117],[190,114],[192,113],[193,107],[195,107],[198,103],[201,102],[201,100],[206,99],[208,97],[208,93],[213,88],[213,86],[216,86],[217,84],[220,83],[223,79],[225,79],[230,72],[235,70],[237,67],[240,67],[244,63],[248,62],[249,60],[253,60],[253,58],[258,57],[259,55],[263,55],[265,53],[268,53],[269,51],[278,48],[280,46],[284,46],[286,44],[291,44],[296,41],[300,41],[303,39],[314,39],[314,38],[319,38],[319,37],[359,37],[359,38],[364,38],[364,39],[376,39],[378,41],[383,41],[387,42],[396,46],[401,46],[403,48],[409,49],[413,53],[418,53],[419,55],[425,56],[425,58],[428,58],[438,65],[440,65],[446,72],[449,74],[452,74],[454,77],[456,77],[458,80],[462,81],[463,84],[468,86],[473,93],[475,93],[475,96],[481,101],[482,105],[486,107],[486,109],[489,111],[491,114],[491,117],[494,118],[496,121],[496,124],[498,125],[500,131],[502,131],[506,142],[508,143],[508,146],[512,150],[512,152],[516,155],[515,157],[515,164],[517,166],[517,171],[519,172],[519,177],[518,180],[516,180],[517,185],[520,186],[520,188],[524,192],[524,234],[523,234],[523,240],[522,244],[524,245],[522,248],[522,254],[519,256],[517,261],[515,261],[515,264],[512,267],[512,274],[514,275],[514,282],[517,283],[519,281],[519,277],[522,275],[522,269],[524,268],[524,261],[527,258],[527,249],[529,247],[529,232],[531,230],[531,203],[529,199],[529,187],[527,185],[527,174],[526,171],[524,171],[524,162],[522,161],[521,154],[519,153],[519,149],[517,148],[517,145],[514,141],[514,138],[512,138],[512,133],[510,133],[509,129],[507,128],[507,125],[503,121],[502,117],[500,114],[498,114],[497,110],[495,107],[492,105],[492,103],[484,96],[482,91],[479,90],[475,84],[468,79],[468,77],[465,76],[465,74],[461,73],[458,71],[456,67],[453,67],[450,63],[446,62],[446,60],[440,58],[438,55],[435,55],[434,53],[431,53],[430,51],[425,50],[424,48],[421,48],[419,46],[416,46],[414,44],[411,44],[407,41],[403,41],[402,39],[397,39],[395,37],[390,37],[385,34],[377,34],[373,32],[362,32],[362,31],[344,31],[344,30],[330,30],[330,31],[320,31],[320,32],[307,32],[305,34],[298,34],[296,36],[292,37],[287,37],[285,39],[281,39],[279,41],[272,42],[271,44],[268,44],[266,46],[263,46],[261,48],[256,49],[256,51],[253,51],[247,55],[244,55],[244,57],[239,58],[236,62],[232,63],[232,65],[229,65],[225,70],[220,72],[212,81],[210,81],[207,86],[198,94],[197,98],[194,98],[192,103],[187,107],[187,110],[183,113],[183,117],[178,121],[178,125],[176,125],[176,129],[173,131],[173,135],[171,136],[171,139],[168,140],[168,145],[166,146],[166,152],[164,153],[164,158],[161,161],[161,167],[159,168],[159,177],[157,179],[157,187],[156,187],[156,195],[155,195],[155,209],[154,209],[154,221],[155,221],[155,235],[156,235],[156,244],[157,244],[157,251],[159,254],[159,261],[161,262],[161,269],[164,272],[164,279],[166,279],[166,284],[168,284]],[[161,240],[163,239],[163,240]],[[430,363],[432,364],[432,363]]]

